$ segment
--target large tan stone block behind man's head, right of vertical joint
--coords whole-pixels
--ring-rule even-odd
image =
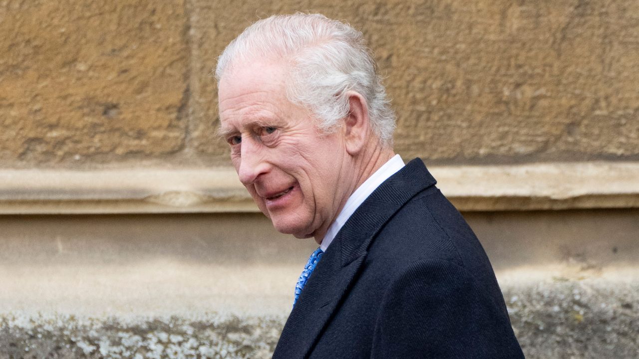
[[[210,73],[226,43],[259,17],[308,10],[364,32],[387,76],[396,150],[406,158],[639,158],[636,1],[192,4],[194,113],[203,118],[217,118]],[[223,153],[215,123],[196,123],[194,147]]]

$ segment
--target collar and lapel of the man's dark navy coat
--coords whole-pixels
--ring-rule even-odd
[[[404,203],[435,183],[424,163],[416,158],[362,202],[337,233],[306,282],[282,330],[274,359],[309,355],[357,277],[371,240]]]

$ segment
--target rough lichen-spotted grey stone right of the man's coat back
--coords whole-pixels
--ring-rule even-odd
[[[558,276],[502,290],[528,359],[639,357],[639,282]]]

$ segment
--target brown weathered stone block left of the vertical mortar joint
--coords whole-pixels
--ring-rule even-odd
[[[180,0],[0,2],[0,165],[181,151],[186,26]]]

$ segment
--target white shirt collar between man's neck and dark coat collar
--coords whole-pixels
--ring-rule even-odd
[[[323,240],[321,241],[321,245],[319,248],[326,252],[330,243],[334,240],[337,232],[342,228],[344,223],[351,217],[353,212],[357,210],[357,208],[364,202],[365,199],[368,198],[371,193],[377,188],[380,187],[383,181],[386,181],[390,176],[395,174],[395,172],[399,171],[404,167],[404,160],[399,157],[399,155],[395,155],[393,158],[390,158],[388,162],[383,164],[372,176],[370,176],[360,187],[348,197],[348,201],[344,204],[344,208],[339,212],[337,218],[335,218],[335,222],[333,222],[330,227],[328,227],[328,231],[325,234]]]

